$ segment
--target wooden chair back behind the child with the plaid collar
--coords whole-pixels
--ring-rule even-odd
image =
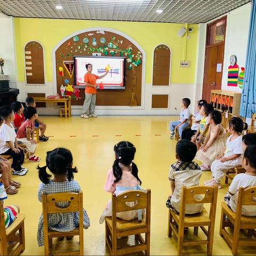
[[[196,196],[204,195],[201,200],[196,199]],[[180,215],[185,217],[186,204],[211,204],[209,218],[210,220],[215,219],[216,205],[217,205],[218,187],[207,187],[207,186],[193,186],[185,187],[181,189],[181,205]],[[184,218],[180,218],[184,221]]]

